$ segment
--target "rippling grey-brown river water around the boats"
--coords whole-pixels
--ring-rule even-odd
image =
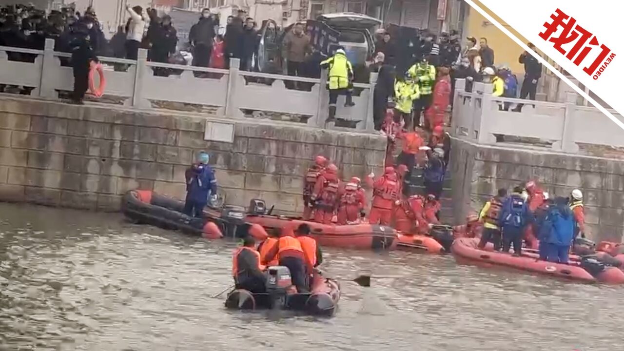
[[[0,204],[0,350],[624,350],[624,288],[326,249],[331,319],[223,308],[234,242]],[[363,288],[361,270],[401,278]]]

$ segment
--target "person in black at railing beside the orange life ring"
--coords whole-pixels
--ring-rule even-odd
[[[69,42],[72,51],[72,69],[74,71],[74,104],[84,104],[84,95],[89,89],[89,69],[91,61],[98,62],[91,47],[89,27],[87,21],[77,22],[74,25],[74,37]]]

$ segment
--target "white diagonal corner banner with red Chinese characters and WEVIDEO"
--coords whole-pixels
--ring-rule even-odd
[[[542,57],[529,50],[526,42],[520,41],[474,1],[465,1],[624,129],[624,123],[620,119],[557,72]],[[480,2],[624,116],[621,92],[624,79],[624,42],[619,32],[613,30],[621,21],[623,2],[607,1],[597,3],[596,6],[592,6],[587,0]]]

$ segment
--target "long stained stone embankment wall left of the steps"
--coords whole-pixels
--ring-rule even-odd
[[[345,179],[383,166],[381,136],[236,120],[227,121],[233,142],[214,142],[204,140],[206,121],[2,98],[0,200],[114,211],[137,187],[183,198],[185,168],[206,150],[228,203],[261,197],[292,213],[303,210],[303,175],[317,154],[334,160]]]

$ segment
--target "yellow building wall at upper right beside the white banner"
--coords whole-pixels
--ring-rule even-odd
[[[494,64],[496,66],[504,64],[509,66],[512,72],[524,74],[524,66],[518,62],[518,57],[524,49],[472,7],[467,7],[467,10],[462,47],[465,46],[466,37],[477,38],[477,44],[480,37],[485,37],[487,44],[494,50]],[[500,23],[507,29],[511,29],[507,23],[502,21]]]

